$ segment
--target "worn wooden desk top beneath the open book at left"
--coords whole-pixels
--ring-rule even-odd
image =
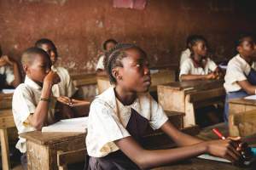
[[[21,133],[20,137],[41,145],[55,144],[79,137],[83,137],[85,141],[85,133],[42,133],[41,131],[32,131]]]

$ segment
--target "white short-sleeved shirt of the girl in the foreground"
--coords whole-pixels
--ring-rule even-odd
[[[116,99],[113,87],[108,88],[90,105],[86,149],[89,156],[102,157],[119,150],[115,140],[131,136],[125,129],[131,117],[131,108],[148,119],[153,129],[160,128],[168,117],[150,94],[138,94],[131,105],[122,105]]]

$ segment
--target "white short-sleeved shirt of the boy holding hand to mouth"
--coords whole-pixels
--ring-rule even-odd
[[[26,77],[25,82],[15,88],[12,101],[12,111],[19,134],[36,130],[34,127],[29,125],[26,120],[28,116],[36,111],[41,93],[42,88],[29,77]],[[54,98],[50,98],[49,112],[45,125],[52,124],[55,120],[55,102],[56,100]],[[19,137],[16,148],[20,150],[21,153],[25,153],[26,139]]]

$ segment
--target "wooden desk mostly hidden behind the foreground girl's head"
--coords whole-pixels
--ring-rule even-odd
[[[110,87],[110,82],[108,76],[98,76],[97,85],[99,89],[99,94]],[[159,72],[151,74],[151,87],[149,91],[156,91],[157,85],[166,84],[168,82],[175,81],[175,71],[174,70],[160,70]]]

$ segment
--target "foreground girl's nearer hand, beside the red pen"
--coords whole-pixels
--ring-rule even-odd
[[[238,141],[240,141],[240,139],[220,139],[208,141],[207,153],[213,156],[223,157],[232,162],[238,162],[241,160],[241,152],[237,150],[237,146],[239,145]]]

